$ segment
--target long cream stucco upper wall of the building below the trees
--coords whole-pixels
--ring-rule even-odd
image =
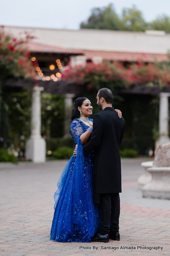
[[[37,37],[35,41],[38,43],[64,48],[162,54],[170,50],[170,35],[98,29],[65,30],[24,27],[5,27],[5,29],[16,36],[23,31],[28,31]]]

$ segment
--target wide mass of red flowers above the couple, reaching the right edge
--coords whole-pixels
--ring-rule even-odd
[[[167,67],[158,68],[156,64],[129,65],[125,68],[120,62],[110,64],[87,63],[86,66],[69,67],[62,74],[62,79],[73,80],[81,85],[87,85],[87,89],[99,89],[102,83],[112,86],[130,86],[134,83],[152,86],[170,85],[170,70]]]

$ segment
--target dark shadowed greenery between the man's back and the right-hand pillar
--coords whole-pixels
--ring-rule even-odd
[[[153,128],[158,124],[158,106],[150,95],[123,95],[124,101],[117,101],[113,106],[120,109],[126,121],[126,129],[120,149],[135,149],[139,155],[146,150],[154,150],[155,137]]]

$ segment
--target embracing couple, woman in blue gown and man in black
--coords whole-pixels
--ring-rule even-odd
[[[97,93],[102,112],[92,115],[89,99],[74,102],[71,134],[76,144],[55,192],[50,240],[109,242],[120,240],[121,163],[119,147],[125,121],[112,107],[110,89]]]

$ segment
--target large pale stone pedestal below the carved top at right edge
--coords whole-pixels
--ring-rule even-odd
[[[152,180],[142,188],[143,197],[170,200],[170,167],[148,168]]]

